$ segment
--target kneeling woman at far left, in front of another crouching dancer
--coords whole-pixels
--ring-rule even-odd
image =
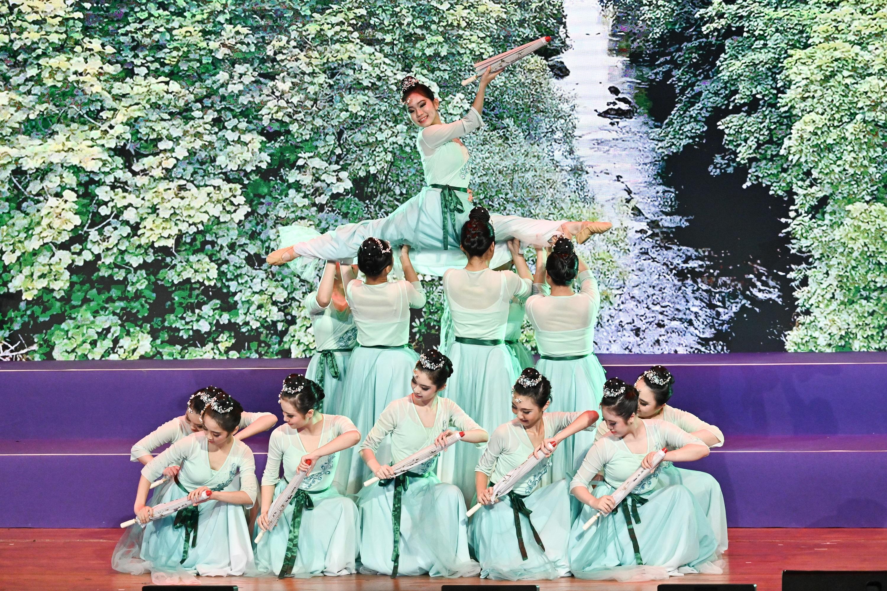
[[[253,452],[235,437],[243,408],[218,388],[200,398],[203,432],[179,439],[142,468],[134,510],[138,522],[147,525],[144,530],[130,526],[117,543],[111,558],[116,571],[171,573],[185,579],[255,573],[247,520],[239,507],[255,502],[258,487]],[[181,466],[174,486],[164,487],[145,504],[151,481],[174,465]],[[184,496],[196,499],[207,490],[213,491],[208,501],[149,521],[154,505]]]

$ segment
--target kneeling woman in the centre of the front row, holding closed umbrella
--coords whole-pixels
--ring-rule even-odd
[[[380,478],[379,486],[368,486],[358,495],[361,572],[471,577],[480,571],[468,557],[465,499],[459,488],[437,479],[436,458],[395,477],[375,455],[389,435],[394,462],[442,444],[451,428],[465,432],[462,441],[467,443],[488,439],[456,403],[437,395],[451,373],[452,364],[443,354],[423,353],[413,372],[412,393],[385,408],[360,446],[366,465]]]

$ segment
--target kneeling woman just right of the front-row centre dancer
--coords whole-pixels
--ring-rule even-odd
[[[567,481],[539,487],[549,460],[508,493],[491,503],[492,485],[520,466],[544,444],[557,446],[574,433],[593,430],[598,414],[549,413],[551,384],[536,369],[524,369],[514,383],[513,421],[501,424],[475,469],[480,509],[468,528],[481,577],[490,579],[555,579],[569,575],[567,538],[570,513]],[[516,539],[516,543],[514,541]]]

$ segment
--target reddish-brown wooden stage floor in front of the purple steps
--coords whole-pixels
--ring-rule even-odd
[[[0,589],[70,591],[141,589],[148,576],[111,570],[110,556],[119,529],[0,529]],[[887,529],[731,529],[727,567],[722,575],[672,577],[647,583],[592,582],[565,577],[533,581],[542,591],[655,590],[666,583],[757,583],[761,591],[781,589],[781,572],[790,570],[887,570]],[[313,579],[200,579],[240,589],[300,591],[425,591],[443,584],[496,585],[486,579],[431,579],[353,575]],[[525,581],[530,582],[530,581]]]

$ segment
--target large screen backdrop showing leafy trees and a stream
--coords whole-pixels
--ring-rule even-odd
[[[885,32],[880,0],[5,3],[0,355],[310,354],[277,228],[391,212],[422,183],[397,82],[452,120],[542,35],[472,186],[615,224],[582,249],[598,352],[887,349]]]

